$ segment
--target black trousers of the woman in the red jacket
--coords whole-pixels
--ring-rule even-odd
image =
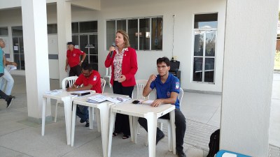
[[[113,82],[113,93],[114,94],[123,94],[130,96],[132,98],[132,91],[134,86],[132,87],[123,87],[120,82]],[[130,135],[130,119],[126,114],[116,114],[115,121],[115,130],[114,133],[123,133],[123,135]]]

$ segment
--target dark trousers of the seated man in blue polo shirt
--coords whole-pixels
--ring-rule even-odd
[[[169,114],[165,114],[160,119],[170,119]],[[146,131],[148,131],[147,119],[139,118],[138,122]],[[186,132],[186,118],[179,109],[175,109],[175,126],[176,126],[176,150],[181,152],[183,151],[183,138],[185,137]],[[157,136],[162,132],[157,128]]]

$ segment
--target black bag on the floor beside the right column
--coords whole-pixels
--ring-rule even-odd
[[[216,130],[210,136],[209,154],[207,155],[207,157],[215,156],[215,154],[219,151],[219,142],[220,142],[220,129]]]

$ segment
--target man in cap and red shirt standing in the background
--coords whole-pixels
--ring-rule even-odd
[[[85,52],[78,50],[75,48],[75,44],[73,42],[68,42],[68,49],[66,54],[66,65],[65,71],[67,72],[67,66],[70,66],[69,76],[79,76],[82,71],[82,63],[85,60]],[[83,56],[82,60],[80,60],[80,56]]]

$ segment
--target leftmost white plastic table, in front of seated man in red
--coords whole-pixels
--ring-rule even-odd
[[[65,125],[66,125],[66,139],[67,144],[71,144],[71,113],[72,113],[72,101],[74,98],[71,96],[71,93],[75,91],[68,92],[66,90],[62,90],[59,94],[43,94],[43,108],[42,108],[42,136],[45,135],[45,106],[47,104],[47,98],[62,100],[64,103],[64,114],[65,114]],[[95,91],[91,91],[92,94]]]

